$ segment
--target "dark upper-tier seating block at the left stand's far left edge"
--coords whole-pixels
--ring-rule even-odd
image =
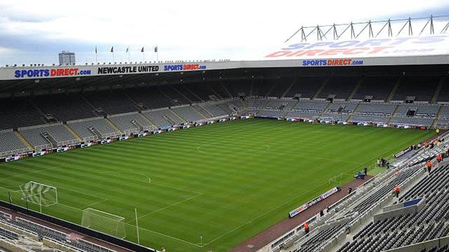
[[[26,100],[0,100],[0,130],[46,123],[43,114]]]

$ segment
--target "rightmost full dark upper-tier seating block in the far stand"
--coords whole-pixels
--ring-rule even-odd
[[[406,97],[415,97],[417,101],[430,102],[440,78],[413,76],[404,78],[394,94],[393,101],[404,101]]]

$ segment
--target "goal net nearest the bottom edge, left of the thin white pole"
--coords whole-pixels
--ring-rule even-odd
[[[97,209],[84,209],[81,225],[121,239],[126,237],[125,218]]]

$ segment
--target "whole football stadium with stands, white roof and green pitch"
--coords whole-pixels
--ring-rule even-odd
[[[449,251],[448,28],[1,66],[0,251]]]

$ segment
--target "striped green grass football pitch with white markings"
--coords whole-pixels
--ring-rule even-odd
[[[58,188],[44,214],[81,223],[93,208],[126,239],[167,251],[227,251],[335,186],[330,179],[431,137],[424,130],[238,120],[0,164],[0,199],[28,181]],[[39,206],[29,204],[39,211]],[[202,243],[201,237],[202,236]]]

